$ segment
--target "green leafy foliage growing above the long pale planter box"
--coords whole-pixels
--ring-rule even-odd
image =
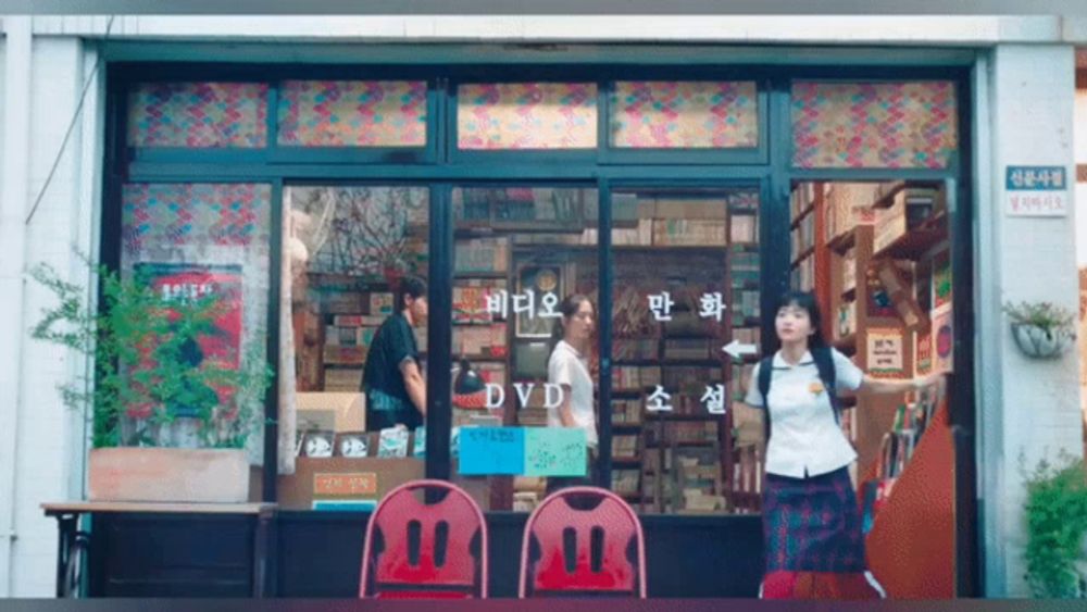
[[[96,448],[186,446],[172,439],[178,419],[197,423],[199,446],[243,448],[262,422],[272,369],[249,349],[240,365],[204,355],[226,304],[215,292],[170,298],[140,278],[98,268],[101,309],[87,291],[41,264],[30,276],[58,303],[42,311],[34,338],[75,350],[90,376],[61,386],[65,405],[89,412]]]

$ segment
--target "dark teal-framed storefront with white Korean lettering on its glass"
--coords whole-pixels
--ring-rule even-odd
[[[275,370],[246,448],[250,500],[276,508],[260,547],[232,530],[248,521],[95,515],[91,538],[112,544],[90,550],[90,594],[188,592],[214,575],[117,544],[152,534],[178,558],[237,539],[232,572],[250,577],[209,592],[350,597],[367,511],[425,476],[485,510],[491,591],[514,595],[526,513],[562,460],[511,467],[473,432],[508,428],[545,455],[569,441],[541,433],[560,401],[548,363],[560,302],[583,295],[588,477],[642,517],[650,596],[752,597],[763,424],[739,402],[790,288],[816,293],[827,340],[865,371],[948,374],[947,398],[847,398],[841,425],[892,592],[986,592],[999,529],[980,522],[996,451],[978,407],[996,396],[977,329],[994,323],[977,304],[996,222],[978,207],[994,158],[1019,163],[992,152],[1000,133],[976,132],[1010,112],[992,102],[1005,82],[980,70],[997,60],[420,45],[268,63],[198,47],[163,61],[121,43],[104,63],[100,258],[232,297],[220,346]],[[363,370],[408,275],[428,285],[413,322],[427,417],[371,430]],[[465,370],[486,386],[465,388]]]

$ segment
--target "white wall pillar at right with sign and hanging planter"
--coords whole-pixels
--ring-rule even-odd
[[[1074,50],[1071,46],[999,46],[988,105],[991,199],[980,199],[977,271],[978,402],[988,596],[1022,597],[1025,545],[1020,457],[1034,466],[1061,450],[1083,455],[1078,354],[1024,358],[1000,313],[1008,301],[1051,301],[1078,309],[1075,211],[1067,217],[1004,215],[1007,165],[1063,165],[1073,172]],[[984,93],[983,93],[984,95]],[[983,120],[984,121],[984,120]],[[984,157],[983,157],[984,159]]]

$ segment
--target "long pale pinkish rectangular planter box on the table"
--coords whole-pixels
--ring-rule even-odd
[[[100,448],[90,451],[87,479],[90,501],[249,501],[241,449]]]

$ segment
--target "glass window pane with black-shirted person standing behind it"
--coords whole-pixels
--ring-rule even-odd
[[[292,474],[278,502],[366,508],[424,475],[429,190],[291,186],[284,201],[279,458]]]

